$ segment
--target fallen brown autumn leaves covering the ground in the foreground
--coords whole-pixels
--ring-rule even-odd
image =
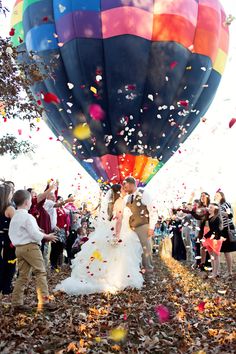
[[[49,275],[51,289],[69,274]],[[34,280],[34,279],[33,279]],[[54,313],[0,313],[0,353],[236,352],[236,279],[204,279],[172,258],[156,256],[142,291],[69,297],[56,294]],[[35,302],[32,283],[27,303]]]

